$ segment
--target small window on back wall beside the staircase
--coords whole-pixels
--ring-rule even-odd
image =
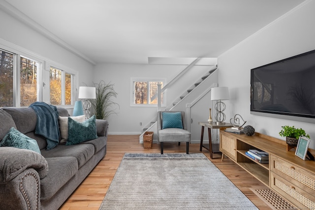
[[[158,97],[153,101],[151,98],[158,94],[158,84],[161,84],[161,89],[165,79],[145,79],[131,78],[132,85],[132,106],[154,105],[158,104]],[[161,95],[161,104],[164,104],[164,94]]]

